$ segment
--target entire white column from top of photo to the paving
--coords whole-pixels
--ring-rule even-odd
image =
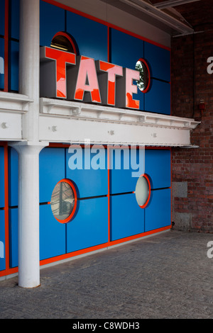
[[[19,93],[31,99],[22,118],[24,142],[18,152],[18,285],[40,285],[39,259],[39,152],[38,141],[40,0],[20,0]]]

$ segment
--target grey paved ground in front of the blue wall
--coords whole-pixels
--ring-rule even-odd
[[[211,241],[170,230],[42,269],[38,288],[0,281],[0,318],[212,319]]]

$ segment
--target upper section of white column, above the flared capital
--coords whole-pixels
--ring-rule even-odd
[[[23,139],[38,141],[40,0],[20,0],[19,93],[33,103],[23,115]]]

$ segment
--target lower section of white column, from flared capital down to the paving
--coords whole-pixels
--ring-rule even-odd
[[[39,153],[42,142],[17,142],[18,152],[18,286],[40,285]]]

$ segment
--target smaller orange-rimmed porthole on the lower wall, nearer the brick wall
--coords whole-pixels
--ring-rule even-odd
[[[135,194],[138,205],[145,208],[151,196],[151,184],[146,174],[138,178]]]

